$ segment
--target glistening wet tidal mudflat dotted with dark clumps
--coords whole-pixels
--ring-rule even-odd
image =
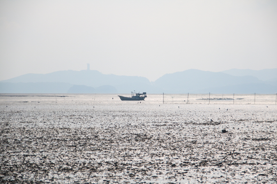
[[[277,105],[147,96],[0,96],[0,183],[277,182]]]

